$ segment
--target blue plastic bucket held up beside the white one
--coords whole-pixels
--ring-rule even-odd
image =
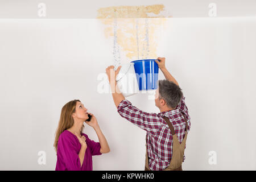
[[[158,64],[155,59],[131,61],[138,81],[139,90],[155,90],[158,88]]]

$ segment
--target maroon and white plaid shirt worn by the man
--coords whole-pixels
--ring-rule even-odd
[[[121,117],[126,118],[134,125],[147,131],[146,146],[148,154],[148,167],[154,171],[161,171],[170,165],[172,159],[172,134],[169,126],[162,117],[166,116],[174,126],[175,133],[181,143],[185,137],[185,120],[188,119],[188,131],[190,130],[190,117],[183,96],[179,105],[174,110],[162,113],[146,113],[131,105],[128,100],[123,100],[117,107]],[[185,156],[183,157],[183,162]]]

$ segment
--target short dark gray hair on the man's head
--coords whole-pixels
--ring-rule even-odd
[[[167,106],[175,109],[183,97],[181,88],[174,82],[168,80],[159,80],[158,87],[159,99],[163,98],[163,100],[166,101]]]

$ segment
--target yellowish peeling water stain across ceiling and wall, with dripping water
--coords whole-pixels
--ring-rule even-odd
[[[155,59],[159,28],[171,17],[164,5],[112,6],[98,9],[106,38],[113,38],[115,62]],[[118,63],[117,63],[118,64]]]

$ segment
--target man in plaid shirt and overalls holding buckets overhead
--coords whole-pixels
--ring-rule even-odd
[[[155,94],[155,105],[160,110],[158,114],[139,110],[123,97],[115,81],[121,67],[114,71],[114,66],[109,66],[106,74],[118,113],[147,131],[145,170],[182,170],[190,117],[185,97],[175,78],[166,69],[165,58],[158,57],[155,61],[166,77],[166,80],[159,80]]]

